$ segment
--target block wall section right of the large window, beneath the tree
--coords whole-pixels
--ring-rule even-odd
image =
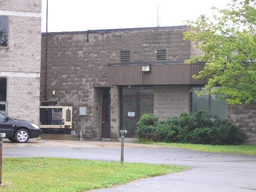
[[[250,105],[228,105],[227,119],[231,124],[241,126],[246,134],[245,143],[256,144],[256,103]]]

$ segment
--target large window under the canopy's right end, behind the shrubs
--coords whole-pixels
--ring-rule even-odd
[[[218,95],[207,95],[199,97],[195,91],[200,92],[204,87],[192,87],[192,113],[200,110],[207,110],[212,115],[212,119],[227,119],[226,100],[218,101]]]

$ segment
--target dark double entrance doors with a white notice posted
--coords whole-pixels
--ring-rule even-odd
[[[153,88],[134,87],[122,89],[122,130],[125,137],[136,135],[136,123],[145,113],[153,113]]]

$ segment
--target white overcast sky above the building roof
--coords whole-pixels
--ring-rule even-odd
[[[48,0],[48,32],[86,31],[157,26],[180,26],[184,20],[210,17],[212,6],[230,0]],[[46,4],[42,0],[42,32],[46,32]]]

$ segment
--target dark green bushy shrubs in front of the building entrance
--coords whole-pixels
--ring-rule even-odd
[[[181,113],[180,117],[158,121],[154,114],[144,114],[137,122],[139,140],[166,143],[238,145],[244,142],[241,128],[227,121],[212,121],[207,111]]]

